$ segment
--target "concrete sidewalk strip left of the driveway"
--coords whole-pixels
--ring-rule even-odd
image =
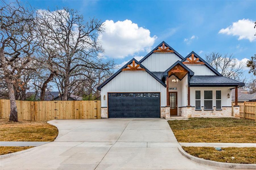
[[[49,142],[0,141],[0,146],[40,146]]]

